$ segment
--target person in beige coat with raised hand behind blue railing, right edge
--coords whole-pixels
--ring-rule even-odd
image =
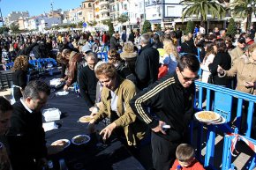
[[[217,69],[219,77],[234,78],[237,76],[236,90],[256,95],[256,44],[248,48],[247,55],[242,55],[230,70]]]

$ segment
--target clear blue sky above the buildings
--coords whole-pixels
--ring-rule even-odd
[[[84,0],[0,0],[0,8],[3,17],[6,17],[11,11],[28,11],[29,16],[39,15],[53,9],[69,10],[78,8]]]

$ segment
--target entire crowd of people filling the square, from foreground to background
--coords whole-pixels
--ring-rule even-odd
[[[100,132],[104,140],[115,133],[125,138],[132,150],[139,150],[142,141],[151,138],[153,162],[148,169],[204,169],[188,144],[188,124],[194,115],[194,81],[201,77],[202,82],[255,95],[253,30],[241,33],[236,43],[225,30],[215,28],[206,34],[203,26],[188,34],[177,28],[143,34],[139,30],[127,34],[124,30],[111,36],[107,32],[73,32],[2,38],[3,65],[14,61],[16,103],[11,106],[0,98],[2,135],[11,121],[5,136],[11,165],[4,157],[0,167],[2,162],[3,169],[12,166],[13,170],[46,165],[49,148],[45,145],[40,109],[48,100],[49,85],[39,80],[27,84],[26,73],[29,59],[54,57],[62,66],[64,91],[74,83],[79,85],[81,99],[92,113],[90,132],[94,133],[95,124],[108,118],[109,123]],[[56,55],[51,52],[54,48]],[[106,52],[108,62],[99,61],[97,52]],[[162,66],[167,72],[160,77]],[[252,129],[252,133],[255,131]],[[33,144],[27,143],[28,138]]]

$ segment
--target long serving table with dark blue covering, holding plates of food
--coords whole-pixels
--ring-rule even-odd
[[[62,116],[59,121],[56,121],[59,128],[46,132],[48,145],[58,139],[72,140],[72,137],[77,135],[88,134],[87,123],[80,123],[78,120],[83,115],[89,115],[89,112],[77,93],[70,91],[65,96],[56,96],[55,92],[52,92],[46,108],[52,107],[59,108]],[[102,128],[103,124],[99,124],[99,126]],[[98,134],[93,134],[90,137],[91,141],[88,144],[71,144],[63,152],[49,156],[49,159],[53,160],[55,168],[59,168],[58,160],[64,159],[69,170],[145,169],[117,139],[112,139],[109,145],[104,145],[98,142]]]

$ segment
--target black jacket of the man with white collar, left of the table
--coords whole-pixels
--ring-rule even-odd
[[[11,164],[15,169],[31,169],[34,159],[46,158],[45,132],[41,112],[29,113],[22,103],[13,105],[11,128],[7,134]]]

